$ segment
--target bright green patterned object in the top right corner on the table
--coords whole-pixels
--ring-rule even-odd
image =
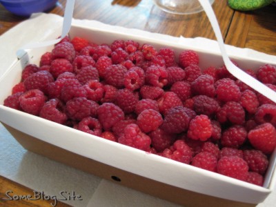
[[[257,10],[264,6],[268,6],[275,0],[228,0],[228,5],[234,10]]]

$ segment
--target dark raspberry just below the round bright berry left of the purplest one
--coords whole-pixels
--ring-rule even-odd
[[[175,141],[175,136],[170,135],[168,132],[157,128],[156,130],[150,132],[151,145],[157,152],[162,152],[166,148],[169,148],[173,141]]]

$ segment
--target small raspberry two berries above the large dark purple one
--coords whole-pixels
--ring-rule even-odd
[[[191,95],[190,83],[186,81],[175,82],[172,84],[170,91],[175,92],[181,101],[186,101],[186,99],[190,98]]]

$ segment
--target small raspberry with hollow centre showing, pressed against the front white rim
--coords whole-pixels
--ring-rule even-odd
[[[101,135],[101,124],[98,119],[92,117],[84,117],[81,121],[79,121],[77,129],[90,135]]]

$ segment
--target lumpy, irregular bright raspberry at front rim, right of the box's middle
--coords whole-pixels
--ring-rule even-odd
[[[184,164],[190,164],[190,161],[193,159],[193,152],[183,140],[179,139],[170,148],[166,148],[161,153],[161,156],[180,161]]]

